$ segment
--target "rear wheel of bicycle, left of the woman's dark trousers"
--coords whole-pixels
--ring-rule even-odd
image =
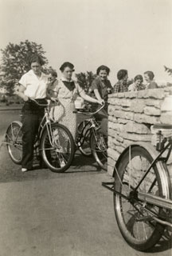
[[[6,131],[6,146],[10,158],[18,165],[22,163],[22,123],[12,122]]]

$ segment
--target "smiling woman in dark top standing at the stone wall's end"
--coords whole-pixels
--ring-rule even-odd
[[[97,77],[92,81],[90,91],[93,91],[98,100],[105,102],[104,109],[96,114],[96,119],[101,122],[101,132],[108,135],[108,94],[113,92],[111,82],[108,80],[110,69],[108,66],[99,66],[96,70]]]

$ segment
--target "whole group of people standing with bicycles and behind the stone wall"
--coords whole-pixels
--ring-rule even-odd
[[[147,71],[144,78],[147,81],[147,86],[143,86],[143,77],[137,75],[131,86],[127,86],[127,70],[119,70],[117,74],[118,82],[115,86],[111,86],[108,80],[110,69],[108,66],[99,66],[96,74],[97,77],[93,80],[90,87],[95,97],[91,97],[85,93],[84,89],[72,79],[74,66],[70,62],[65,62],[61,65],[61,78],[57,78],[57,72],[51,70],[49,75],[45,75],[41,71],[41,66],[45,63],[40,56],[33,55],[30,58],[29,72],[23,74],[20,79],[20,89],[18,95],[24,100],[22,108],[22,171],[33,169],[33,145],[37,134],[39,123],[44,115],[44,109],[37,108],[29,101],[29,98],[36,99],[39,102],[50,100],[50,114],[52,117],[68,127],[73,138],[76,137],[76,114],[74,102],[77,96],[80,96],[85,101],[105,103],[104,110],[97,117],[101,122],[101,130],[104,134],[108,132],[108,94],[123,92],[127,90],[143,90],[156,88],[157,84],[153,81],[154,74]],[[54,105],[57,101],[58,104]]]

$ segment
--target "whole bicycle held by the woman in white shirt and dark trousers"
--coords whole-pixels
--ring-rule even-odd
[[[40,104],[29,99],[37,107],[44,107],[34,143],[34,158],[43,159],[45,165],[53,172],[65,172],[71,166],[75,154],[75,143],[67,127],[55,122],[49,116],[49,104]],[[10,158],[18,165],[22,163],[22,122],[14,121],[6,130],[6,146]]]

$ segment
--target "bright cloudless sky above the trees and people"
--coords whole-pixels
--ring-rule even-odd
[[[129,77],[154,71],[170,81],[172,67],[171,0],[0,0],[0,48],[9,42],[41,43],[53,66],[65,61],[76,72],[102,64]]]

